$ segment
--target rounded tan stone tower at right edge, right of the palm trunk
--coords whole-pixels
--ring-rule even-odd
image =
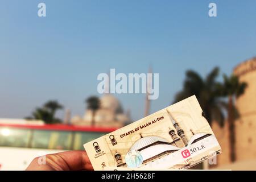
[[[236,125],[237,160],[256,159],[256,57],[246,60],[234,69],[241,82],[247,83],[242,96],[236,100],[240,118]]]

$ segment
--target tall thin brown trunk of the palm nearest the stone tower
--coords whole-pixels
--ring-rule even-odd
[[[228,103],[228,130],[229,130],[229,154],[231,162],[236,160],[236,131],[233,118],[233,97],[229,96]]]

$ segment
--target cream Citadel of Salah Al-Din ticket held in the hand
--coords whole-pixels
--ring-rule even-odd
[[[222,152],[196,96],[84,144],[94,170],[187,169]]]

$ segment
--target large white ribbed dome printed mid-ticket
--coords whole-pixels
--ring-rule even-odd
[[[164,143],[169,143],[167,139],[164,139],[162,137],[157,137],[157,136],[148,136],[148,137],[143,137],[141,139],[138,139],[133,146],[131,146],[131,150],[139,150],[140,148],[146,147],[152,143],[155,142],[164,142]]]

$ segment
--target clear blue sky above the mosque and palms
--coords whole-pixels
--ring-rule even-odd
[[[44,18],[37,15],[40,2]],[[210,2],[217,17],[208,16]],[[50,99],[82,115],[99,73],[145,73],[150,65],[159,73],[153,113],[170,105],[187,69],[231,73],[256,55],[255,7],[256,1],[1,0],[0,117],[26,117]],[[133,119],[143,117],[144,94],[116,96]]]

